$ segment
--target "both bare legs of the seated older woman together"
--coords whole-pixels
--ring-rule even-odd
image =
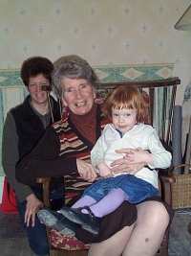
[[[137,224],[125,227],[110,239],[92,244],[89,256],[154,256],[159,249],[169,216],[158,201],[138,205]]]

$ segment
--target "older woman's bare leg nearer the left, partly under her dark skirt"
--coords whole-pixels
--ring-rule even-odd
[[[88,256],[119,256],[126,246],[134,225],[124,227],[116,235],[98,244],[92,244]]]

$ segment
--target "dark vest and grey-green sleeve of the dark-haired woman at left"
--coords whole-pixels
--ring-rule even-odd
[[[59,120],[58,104],[51,97],[54,120]],[[48,115],[50,116],[50,115]],[[44,120],[44,118],[43,118]],[[49,126],[48,118],[46,124]],[[18,182],[15,178],[15,166],[25,154],[28,154],[45,133],[40,115],[30,105],[30,96],[23,104],[8,112],[3,129],[2,164],[11,187],[20,201],[32,194],[32,188]]]

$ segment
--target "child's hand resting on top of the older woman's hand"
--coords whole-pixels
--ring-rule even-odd
[[[144,151],[141,148],[138,148],[137,150],[130,150],[128,153],[126,153],[125,158],[129,163],[135,164],[135,163],[146,163],[151,164],[153,162],[153,156],[152,153],[148,151]]]

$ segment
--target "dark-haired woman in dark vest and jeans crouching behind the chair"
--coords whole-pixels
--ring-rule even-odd
[[[28,154],[45,129],[52,123],[52,116],[48,105],[47,92],[42,87],[52,85],[53,63],[48,58],[27,58],[21,67],[21,79],[29,96],[21,105],[17,105],[8,112],[3,130],[2,163],[5,174],[15,191],[17,207],[21,220],[25,223],[29,243],[36,255],[48,255],[49,244],[46,229],[35,213],[43,206],[41,191],[37,185],[27,186],[15,178],[15,166]],[[53,117],[60,119],[59,107],[51,97]],[[29,218],[30,217],[30,218]]]

